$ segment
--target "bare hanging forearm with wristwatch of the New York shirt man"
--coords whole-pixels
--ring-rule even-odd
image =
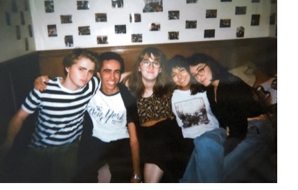
[[[133,122],[128,123],[128,132],[130,133],[130,148],[132,149],[132,166],[134,173],[141,176],[140,156],[139,156],[139,140],[137,137],[137,129]],[[132,178],[130,182],[140,182]]]

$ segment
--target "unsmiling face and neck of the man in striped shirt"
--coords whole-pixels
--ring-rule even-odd
[[[94,75],[95,63],[85,57],[80,57],[71,67],[65,68],[67,78],[62,85],[67,89],[76,90],[85,86]]]

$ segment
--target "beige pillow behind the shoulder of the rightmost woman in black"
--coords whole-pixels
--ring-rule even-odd
[[[240,67],[236,67],[234,69],[230,69],[229,73],[234,74],[241,78],[247,85],[253,87],[256,82],[256,76],[254,75],[254,69],[247,65],[243,65]]]

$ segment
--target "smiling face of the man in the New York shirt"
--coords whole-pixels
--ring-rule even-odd
[[[104,60],[103,67],[98,72],[101,78],[101,90],[105,94],[115,94],[119,91],[118,83],[121,78],[121,64],[117,60]]]

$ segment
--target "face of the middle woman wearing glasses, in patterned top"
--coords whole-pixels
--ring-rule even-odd
[[[150,62],[150,64],[148,67],[146,67],[143,62]],[[157,60],[155,60],[155,56],[152,54],[150,57],[148,55],[145,55],[142,62],[140,62],[139,71],[141,71],[142,80],[154,81],[161,72],[161,67],[159,67],[158,69],[155,68],[153,66],[153,62],[157,62]]]

